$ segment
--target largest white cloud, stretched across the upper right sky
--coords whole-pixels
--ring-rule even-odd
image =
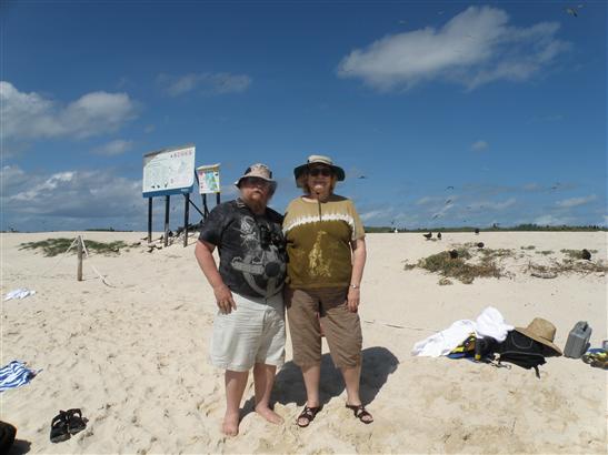
[[[508,24],[497,8],[469,7],[442,28],[389,34],[356,49],[338,65],[341,78],[360,78],[380,91],[447,80],[472,90],[497,80],[525,81],[570,48],[555,38],[559,23]]]

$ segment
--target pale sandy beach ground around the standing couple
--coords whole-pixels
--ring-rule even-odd
[[[375,423],[362,425],[345,408],[343,384],[325,355],[325,407],[310,427],[299,428],[295,419],[305,391],[288,340],[273,391],[285,424],[271,425],[252,412],[250,384],[237,437],[219,429],[223,372],[207,362],[216,303],[193,256],[196,239],[187,247],[176,242],[149,253],[144,233],[86,232],[86,240],[141,244],[92,254],[82,282],[76,281],[74,255],[44,257],[19,249],[76,234],[0,237],[2,300],[18,287],[37,292],[2,303],[0,363],[20,360],[41,370],[29,384],[0,394],[0,418],[18,428],[11,454],[607,453],[606,371],[549,358],[538,380],[517,366],[410,354],[415,342],[453,321],[475,320],[489,305],[515,326],[536,316],[552,322],[561,348],[574,324],[588,321],[591,346],[599,347],[608,338],[606,275],[544,280],[530,276],[526,265],[560,260],[562,249],[597,250],[592,261],[606,261],[605,232],[445,233],[435,242],[415,233],[369,234],[361,392]],[[437,274],[405,270],[406,263],[479,241],[517,253],[504,264],[511,276],[439,285]],[[52,444],[51,418],[73,407],[88,418],[87,429]]]

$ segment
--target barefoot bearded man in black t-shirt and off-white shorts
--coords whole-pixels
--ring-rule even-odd
[[[277,367],[285,362],[281,290],[287,262],[282,215],[267,206],[277,188],[272,172],[253,164],[235,184],[240,196],[211,211],[195,252],[219,309],[210,358],[226,371],[222,432],[230,436],[239,431],[239,407],[251,367],[256,412],[271,423],[282,422],[269,401]],[[216,247],[219,269],[212,255]]]

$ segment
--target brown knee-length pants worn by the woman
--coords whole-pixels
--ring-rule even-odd
[[[321,327],[333,364],[351,368],[361,364],[361,323],[346,304],[348,289],[285,289],[293,363],[300,367],[321,363]],[[319,314],[319,320],[317,318]]]

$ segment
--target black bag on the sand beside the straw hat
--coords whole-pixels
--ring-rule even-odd
[[[536,377],[540,378],[538,366],[546,363],[545,357],[555,355],[550,347],[524,335],[510,331],[507,338],[497,346],[498,363],[509,362],[522,368],[535,368]]]

